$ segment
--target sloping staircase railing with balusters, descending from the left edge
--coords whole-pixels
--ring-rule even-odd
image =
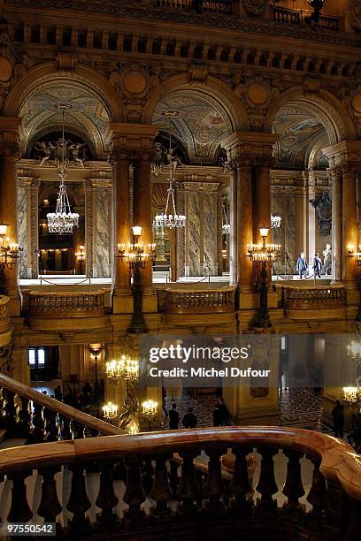
[[[28,443],[124,434],[111,423],[72,408],[0,374],[0,429]]]

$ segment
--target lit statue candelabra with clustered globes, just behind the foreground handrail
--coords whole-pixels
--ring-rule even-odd
[[[134,387],[140,377],[139,361],[122,355],[119,361],[113,359],[105,364],[105,374],[113,385],[120,381],[126,382],[126,398],[123,402],[123,412],[119,415],[119,427],[129,434],[139,432],[139,400],[134,394]]]

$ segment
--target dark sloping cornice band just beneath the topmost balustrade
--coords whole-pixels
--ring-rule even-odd
[[[360,36],[344,32],[321,29],[310,31],[308,28],[281,26],[267,20],[237,19],[234,15],[219,16],[219,14],[213,15],[211,13],[196,14],[191,11],[170,11],[149,5],[136,5],[135,2],[119,1],[115,4],[114,2],[102,0],[88,0],[87,3],[73,2],[73,0],[37,0],[35,6],[34,0],[6,0],[6,4],[19,6],[19,8],[86,11],[87,13],[99,13],[127,19],[159,20],[175,24],[196,25],[197,27],[224,28],[257,35],[271,34],[312,42],[347,45],[349,47],[360,47],[361,44]]]

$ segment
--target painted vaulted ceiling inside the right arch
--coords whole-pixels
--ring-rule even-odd
[[[285,105],[280,108],[273,124],[273,133],[280,135],[277,143],[276,166],[289,169],[308,167],[312,149],[321,138],[327,138],[326,128],[305,105]],[[325,167],[319,153],[315,168]]]

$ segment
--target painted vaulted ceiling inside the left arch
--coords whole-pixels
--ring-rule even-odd
[[[48,132],[60,132],[62,113],[58,105],[66,103],[65,130],[76,133],[103,157],[109,146],[109,115],[96,95],[76,84],[52,84],[39,88],[23,104],[22,152],[29,154],[35,141]]]

